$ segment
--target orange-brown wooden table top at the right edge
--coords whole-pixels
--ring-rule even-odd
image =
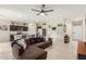
[[[82,55],[86,55],[86,46],[84,41],[78,41],[77,53]]]

